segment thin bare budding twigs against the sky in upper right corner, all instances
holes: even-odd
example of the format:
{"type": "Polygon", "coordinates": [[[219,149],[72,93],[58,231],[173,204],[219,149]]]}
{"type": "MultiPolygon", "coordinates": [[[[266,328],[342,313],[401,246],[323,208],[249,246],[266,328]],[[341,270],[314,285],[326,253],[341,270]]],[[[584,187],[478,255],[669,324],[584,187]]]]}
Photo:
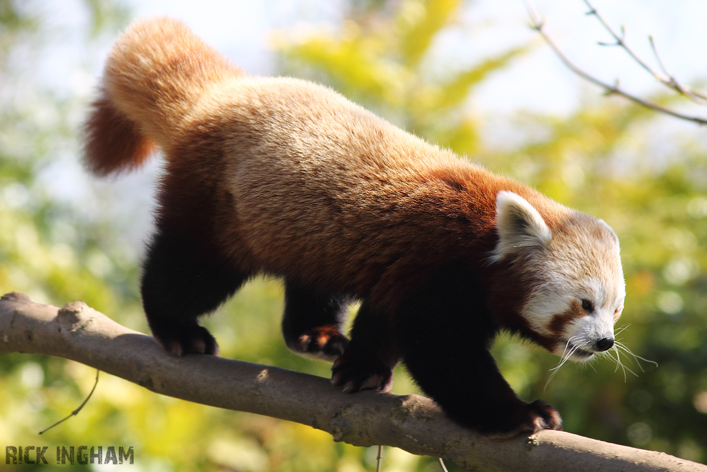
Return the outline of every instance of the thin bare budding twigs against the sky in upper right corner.
{"type": "MultiPolygon", "coordinates": [[[[638,59],[638,58],[636,57],[636,55],[633,54],[633,52],[632,52],[631,50],[629,50],[628,47],[626,47],[626,43],[624,42],[623,38],[621,38],[621,37],[618,36],[616,33],[614,33],[614,30],[612,30],[611,28],[609,28],[609,26],[607,25],[607,23],[604,23],[603,18],[601,18],[600,16],[598,16],[597,11],[596,11],[593,7],[591,7],[591,4],[589,4],[586,0],[585,0],[585,3],[588,4],[588,6],[590,6],[590,11],[588,12],[588,14],[594,15],[594,16],[597,16],[597,18],[600,18],[600,21],[602,22],[602,24],[604,25],[604,27],[607,28],[607,30],[609,30],[609,33],[612,34],[612,36],[614,37],[614,40],[617,41],[615,44],[602,44],[602,43],[600,43],[600,44],[602,44],[602,45],[614,45],[614,46],[617,46],[617,45],[618,45],[618,46],[623,47],[624,50],[626,50],[626,52],[629,52],[629,54],[631,55],[631,57],[633,57],[633,59],[638,60],[638,63],[641,64],[642,67],[644,67],[644,68],[646,68],[648,71],[650,71],[651,74],[653,74],[653,76],[655,76],[655,78],[658,79],[659,81],[661,81],[663,84],[666,84],[667,86],[670,86],[670,88],[673,88],[674,90],[678,91],[679,93],[682,93],[682,94],[688,96],[688,97],[691,98],[693,101],[701,100],[701,96],[700,96],[699,91],[694,91],[694,89],[685,88],[685,87],[683,87],[683,86],[680,86],[680,85],[677,84],[677,82],[674,81],[674,79],[672,79],[672,78],[665,78],[665,81],[662,81],[662,80],[659,78],[659,77],[660,77],[660,74],[655,74],[655,73],[652,71],[652,69],[650,69],[650,67],[645,66],[644,63],[643,63],[643,61],[641,61],[640,59],[638,59]]],[[[568,69],[570,69],[571,71],[573,71],[575,74],[577,74],[578,76],[582,77],[582,78],[585,79],[586,81],[590,81],[590,82],[592,82],[592,84],[595,84],[595,85],[597,85],[597,86],[600,86],[601,88],[604,88],[604,91],[606,91],[607,95],[619,95],[619,96],[622,96],[622,97],[624,97],[624,98],[628,98],[629,100],[633,101],[634,103],[638,103],[638,105],[644,106],[645,108],[650,108],[651,110],[655,110],[655,111],[658,111],[658,112],[660,112],[660,113],[665,113],[666,115],[671,115],[671,116],[676,117],[676,118],[679,118],[679,119],[681,119],[681,120],[687,120],[687,121],[695,122],[695,123],[697,123],[698,125],[707,125],[707,119],[705,119],[705,118],[698,117],[698,116],[685,115],[684,113],[680,113],[680,112],[678,112],[678,111],[676,111],[676,110],[672,110],[672,109],[670,109],[670,108],[666,108],[666,107],[660,105],[659,103],[655,103],[655,102],[653,102],[653,101],[651,101],[651,100],[645,100],[644,98],[640,98],[640,97],[635,96],[635,95],[633,95],[633,94],[631,94],[631,93],[629,93],[629,92],[624,91],[624,89],[622,89],[621,87],[619,87],[619,81],[618,81],[618,80],[617,80],[617,84],[614,85],[614,86],[612,86],[612,85],[607,84],[607,83],[604,82],[604,81],[601,81],[600,79],[597,79],[595,76],[592,76],[592,75],[588,74],[587,72],[583,71],[582,69],[580,69],[579,67],[577,67],[577,66],[562,52],[562,50],[561,50],[560,47],[557,45],[557,43],[554,41],[554,39],[551,37],[551,35],[549,35],[549,33],[547,33],[547,30],[546,30],[546,28],[545,28],[544,21],[542,21],[542,20],[540,20],[540,19],[538,18],[537,13],[535,13],[535,11],[534,11],[534,9],[532,8],[532,5],[530,4],[530,1],[529,1],[529,0],[525,0],[525,6],[526,6],[526,8],[527,8],[528,14],[530,15],[530,21],[531,21],[530,28],[532,28],[533,30],[536,30],[538,33],[540,33],[540,35],[542,36],[542,38],[544,38],[545,42],[547,42],[547,44],[548,44],[548,45],[551,47],[551,49],[555,52],[555,54],[557,55],[557,57],[559,57],[559,58],[561,59],[561,61],[568,67],[568,69]]],[[[653,41],[652,41],[652,40],[651,40],[651,44],[653,44],[653,41]]]]}

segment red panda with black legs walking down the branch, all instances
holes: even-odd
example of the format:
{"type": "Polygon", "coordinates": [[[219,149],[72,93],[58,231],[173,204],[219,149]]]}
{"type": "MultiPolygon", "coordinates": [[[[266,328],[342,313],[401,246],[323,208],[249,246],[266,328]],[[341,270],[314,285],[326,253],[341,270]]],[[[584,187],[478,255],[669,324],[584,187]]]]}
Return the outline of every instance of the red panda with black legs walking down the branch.
{"type": "Polygon", "coordinates": [[[284,278],[288,347],[346,392],[406,367],[491,437],[561,429],[489,353],[500,330],[588,359],[623,309],[607,224],[391,125],[325,86],[247,76],[169,18],[112,47],[85,126],[97,175],[165,158],[141,295],[175,355],[217,354],[197,319],[250,277],[284,278]],[[349,337],[346,306],[361,301],[349,337]]]}

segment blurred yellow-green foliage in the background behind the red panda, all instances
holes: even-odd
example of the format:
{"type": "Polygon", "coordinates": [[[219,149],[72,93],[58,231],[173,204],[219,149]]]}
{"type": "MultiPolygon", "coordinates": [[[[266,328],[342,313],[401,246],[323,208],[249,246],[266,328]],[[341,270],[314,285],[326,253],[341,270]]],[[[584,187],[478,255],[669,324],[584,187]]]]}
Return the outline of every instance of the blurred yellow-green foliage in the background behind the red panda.
{"type": "MultiPolygon", "coordinates": [[[[86,43],[107,41],[129,17],[112,1],[82,5],[90,18],[86,43]]],[[[54,38],[46,18],[25,6],[0,0],[0,292],[26,292],[53,304],[83,299],[145,330],[136,290],[141,248],[122,237],[126,221],[100,216],[110,205],[98,193],[90,195],[98,210],[86,212],[86,197],[57,200],[47,190],[57,162],[76,165],[86,99],[33,80],[36,58],[54,38]]],[[[611,224],[621,239],[629,292],[618,325],[627,328],[618,338],[658,367],[619,352],[634,376],[607,359],[617,356],[609,352],[589,365],[566,365],[549,381],[558,359],[505,336],[494,347],[498,362],[523,398],[554,404],[567,431],[707,461],[704,147],[685,139],[658,159],[645,137],[665,117],[621,100],[589,103],[562,118],[520,114],[510,125],[511,144],[489,144],[484,134],[503,130],[484,128],[485,117],[469,110],[467,99],[526,51],[432,74],[426,63],[432,46],[455,27],[462,7],[473,8],[457,0],[351,1],[340,30],[277,35],[279,63],[288,74],[326,81],[397,125],[611,224]]],[[[278,281],[255,280],[206,325],[218,333],[226,357],[327,376],[328,364],[284,346],[282,306],[278,281]]],[[[62,359],[0,357],[0,445],[46,444],[49,457],[57,445],[132,446],[136,469],[150,471],[375,468],[375,448],[336,444],[303,425],[164,398],[108,375],[76,418],[37,437],[81,403],[94,376],[62,359]]],[[[400,369],[394,391],[415,391],[400,369]]],[[[438,466],[389,449],[383,470],[438,466]]]]}

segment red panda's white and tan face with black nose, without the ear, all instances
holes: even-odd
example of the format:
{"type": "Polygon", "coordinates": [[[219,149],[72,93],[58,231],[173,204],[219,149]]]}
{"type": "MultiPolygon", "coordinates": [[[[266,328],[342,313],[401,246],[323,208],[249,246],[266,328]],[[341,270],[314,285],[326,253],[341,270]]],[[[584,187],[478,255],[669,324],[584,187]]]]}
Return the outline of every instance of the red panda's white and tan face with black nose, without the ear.
{"type": "Polygon", "coordinates": [[[586,360],[613,344],[626,287],[619,243],[604,221],[569,214],[524,267],[535,286],[522,315],[532,330],[559,340],[557,355],[586,360]]]}

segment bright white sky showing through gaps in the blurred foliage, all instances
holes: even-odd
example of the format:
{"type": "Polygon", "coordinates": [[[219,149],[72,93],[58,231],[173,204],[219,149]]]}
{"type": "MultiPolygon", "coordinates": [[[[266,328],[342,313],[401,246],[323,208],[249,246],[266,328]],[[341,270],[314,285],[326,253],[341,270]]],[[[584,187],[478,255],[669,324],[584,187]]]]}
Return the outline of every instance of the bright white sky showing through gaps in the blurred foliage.
{"type": "MultiPolygon", "coordinates": [[[[596,18],[585,15],[588,8],[583,0],[534,0],[532,4],[556,42],[578,66],[612,84],[620,79],[622,87],[641,96],[662,90],[623,50],[597,45],[597,41],[608,41],[609,35],[596,18]]],[[[27,107],[44,100],[37,96],[40,85],[52,88],[59,98],[78,98],[75,101],[83,105],[69,115],[57,116],[52,101],[45,100],[33,116],[37,122],[64,120],[71,129],[80,129],[115,35],[105,35],[98,42],[87,40],[86,28],[81,26],[89,18],[81,0],[29,0],[24,5],[41,12],[54,34],[51,44],[42,49],[39,70],[28,69],[25,64],[37,62],[26,60],[23,50],[16,52],[16,76],[21,80],[13,88],[13,100],[27,107]]],[[[272,52],[276,35],[296,40],[321,30],[336,32],[346,11],[343,0],[131,0],[129,5],[133,18],[180,18],[235,64],[262,76],[276,73],[272,52]]],[[[703,45],[707,44],[703,24],[707,1],[595,0],[594,5],[615,29],[626,26],[626,40],[647,62],[655,64],[648,43],[648,35],[653,35],[663,62],[674,76],[696,86],[707,77],[707,64],[701,59],[703,45]]],[[[518,110],[562,116],[588,102],[624,100],[604,98],[600,88],[575,76],[529,24],[521,0],[468,1],[457,24],[439,35],[426,58],[426,73],[444,76],[513,47],[532,47],[530,54],[496,73],[469,97],[469,113],[485,126],[484,139],[495,139],[496,146],[519,139],[510,120],[518,110]]],[[[683,106],[691,113],[707,116],[707,110],[683,106]]],[[[653,142],[643,144],[650,146],[651,159],[660,159],[660,150],[670,148],[671,142],[682,135],[704,139],[702,128],[670,117],[658,117],[651,126],[656,130],[648,134],[653,142]]],[[[41,177],[45,191],[57,200],[81,202],[87,219],[110,214],[117,226],[126,229],[132,246],[144,247],[152,226],[160,161],[153,159],[143,172],[97,180],[81,167],[78,140],[54,152],[52,165],[41,177]]],[[[667,151],[663,154],[673,155],[667,151]]],[[[17,197],[11,190],[4,195],[17,197]]]]}

